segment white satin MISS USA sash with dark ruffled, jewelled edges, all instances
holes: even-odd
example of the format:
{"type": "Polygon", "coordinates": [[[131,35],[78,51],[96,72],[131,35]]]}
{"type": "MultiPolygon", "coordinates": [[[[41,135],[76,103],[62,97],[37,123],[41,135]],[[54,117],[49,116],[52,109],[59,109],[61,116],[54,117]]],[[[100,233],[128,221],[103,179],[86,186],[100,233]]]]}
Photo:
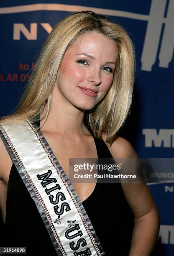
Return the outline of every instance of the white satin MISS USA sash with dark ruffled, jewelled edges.
{"type": "Polygon", "coordinates": [[[58,255],[105,256],[77,193],[37,125],[2,123],[0,131],[58,255]]]}

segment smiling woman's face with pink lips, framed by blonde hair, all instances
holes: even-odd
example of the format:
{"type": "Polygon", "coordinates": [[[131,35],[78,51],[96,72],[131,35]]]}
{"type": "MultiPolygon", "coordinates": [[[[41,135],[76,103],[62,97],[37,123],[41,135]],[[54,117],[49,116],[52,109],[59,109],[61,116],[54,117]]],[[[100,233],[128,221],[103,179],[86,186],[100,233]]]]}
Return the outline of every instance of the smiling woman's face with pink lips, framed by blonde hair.
{"type": "Polygon", "coordinates": [[[113,39],[96,31],[79,36],[61,61],[56,79],[57,100],[83,110],[92,109],[113,82],[117,58],[113,39]]]}

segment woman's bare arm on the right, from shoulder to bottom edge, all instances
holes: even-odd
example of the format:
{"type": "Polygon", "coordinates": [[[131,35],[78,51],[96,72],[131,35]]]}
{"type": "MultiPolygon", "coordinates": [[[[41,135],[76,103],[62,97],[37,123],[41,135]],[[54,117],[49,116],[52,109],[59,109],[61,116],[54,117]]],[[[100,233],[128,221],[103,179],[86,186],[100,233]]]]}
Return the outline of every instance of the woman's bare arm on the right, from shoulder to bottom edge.
{"type": "MultiPolygon", "coordinates": [[[[105,141],[105,136],[103,140],[105,141]]],[[[106,143],[107,144],[107,143],[106,143]]],[[[113,158],[138,158],[133,147],[121,137],[107,144],[113,158]]],[[[134,215],[129,256],[149,256],[159,233],[160,217],[150,189],[144,183],[122,183],[125,198],[134,215]]]]}

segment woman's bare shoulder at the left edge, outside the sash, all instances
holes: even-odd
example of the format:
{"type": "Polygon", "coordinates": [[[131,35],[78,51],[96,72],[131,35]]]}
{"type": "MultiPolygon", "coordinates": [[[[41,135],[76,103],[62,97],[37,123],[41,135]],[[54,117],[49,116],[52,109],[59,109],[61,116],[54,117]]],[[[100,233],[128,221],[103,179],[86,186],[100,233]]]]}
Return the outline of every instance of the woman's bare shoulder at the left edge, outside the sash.
{"type": "Polygon", "coordinates": [[[6,172],[10,169],[12,166],[12,160],[8,154],[8,151],[5,148],[5,145],[0,138],[0,180],[3,179],[6,172]]]}

